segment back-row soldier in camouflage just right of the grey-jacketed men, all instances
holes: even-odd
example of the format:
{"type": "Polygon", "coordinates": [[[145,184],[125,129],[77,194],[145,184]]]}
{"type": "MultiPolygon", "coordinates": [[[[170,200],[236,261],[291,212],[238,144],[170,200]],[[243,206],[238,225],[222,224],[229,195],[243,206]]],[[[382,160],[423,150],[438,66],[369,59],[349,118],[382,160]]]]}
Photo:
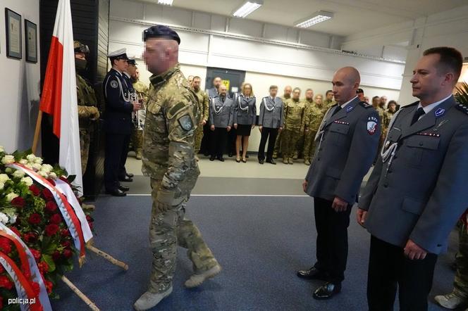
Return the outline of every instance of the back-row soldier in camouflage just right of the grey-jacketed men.
{"type": "Polygon", "coordinates": [[[285,102],[285,122],[281,150],[283,152],[283,163],[294,164],[293,157],[297,140],[301,136],[302,117],[304,115],[304,102],[300,101],[301,90],[296,87],[293,98],[285,102]]]}

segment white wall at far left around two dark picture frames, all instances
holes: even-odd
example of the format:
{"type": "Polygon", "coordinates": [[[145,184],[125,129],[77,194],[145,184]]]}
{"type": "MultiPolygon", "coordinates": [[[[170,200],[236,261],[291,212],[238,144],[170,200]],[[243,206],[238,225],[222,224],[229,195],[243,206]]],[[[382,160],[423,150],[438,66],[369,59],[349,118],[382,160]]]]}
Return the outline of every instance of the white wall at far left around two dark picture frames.
{"type": "Polygon", "coordinates": [[[6,151],[32,146],[39,106],[39,0],[0,2],[0,145],[6,151]],[[23,58],[6,57],[5,8],[21,15],[23,58]],[[37,63],[26,63],[25,19],[37,25],[37,63]]]}

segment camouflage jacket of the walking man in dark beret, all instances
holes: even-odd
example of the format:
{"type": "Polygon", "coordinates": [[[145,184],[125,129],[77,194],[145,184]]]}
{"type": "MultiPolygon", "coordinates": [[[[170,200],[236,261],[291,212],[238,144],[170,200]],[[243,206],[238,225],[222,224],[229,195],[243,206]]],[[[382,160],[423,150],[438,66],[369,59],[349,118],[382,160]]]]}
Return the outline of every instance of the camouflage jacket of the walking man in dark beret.
{"type": "Polygon", "coordinates": [[[149,78],[146,124],[143,139],[145,176],[161,180],[161,188],[174,197],[190,193],[199,168],[194,154],[198,101],[180,65],[149,78]]]}

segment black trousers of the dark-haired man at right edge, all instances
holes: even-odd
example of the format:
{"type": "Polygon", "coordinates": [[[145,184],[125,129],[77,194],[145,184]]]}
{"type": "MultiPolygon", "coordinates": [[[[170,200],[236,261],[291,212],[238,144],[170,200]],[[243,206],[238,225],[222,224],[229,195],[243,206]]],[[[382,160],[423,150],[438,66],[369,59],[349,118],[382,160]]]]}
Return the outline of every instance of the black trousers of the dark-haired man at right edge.
{"type": "Polygon", "coordinates": [[[371,236],[367,303],[369,311],[393,311],[398,287],[400,311],[426,311],[437,255],[410,260],[400,246],[371,236]]]}

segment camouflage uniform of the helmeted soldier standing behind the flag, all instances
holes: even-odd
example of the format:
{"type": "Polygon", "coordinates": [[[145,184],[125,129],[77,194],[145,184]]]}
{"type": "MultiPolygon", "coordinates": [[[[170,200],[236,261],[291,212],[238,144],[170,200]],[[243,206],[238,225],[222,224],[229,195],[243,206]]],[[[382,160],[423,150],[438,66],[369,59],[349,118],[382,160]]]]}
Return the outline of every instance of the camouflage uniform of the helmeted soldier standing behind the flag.
{"type": "Polygon", "coordinates": [[[81,172],[85,174],[88,155],[90,154],[90,141],[92,134],[92,122],[99,120],[96,94],[94,89],[80,75],[76,75],[76,92],[78,99],[78,122],[80,124],[80,151],[81,172]]]}

